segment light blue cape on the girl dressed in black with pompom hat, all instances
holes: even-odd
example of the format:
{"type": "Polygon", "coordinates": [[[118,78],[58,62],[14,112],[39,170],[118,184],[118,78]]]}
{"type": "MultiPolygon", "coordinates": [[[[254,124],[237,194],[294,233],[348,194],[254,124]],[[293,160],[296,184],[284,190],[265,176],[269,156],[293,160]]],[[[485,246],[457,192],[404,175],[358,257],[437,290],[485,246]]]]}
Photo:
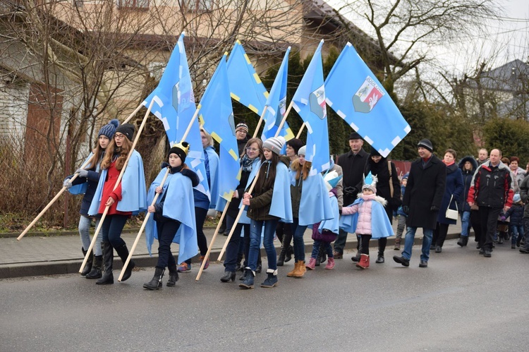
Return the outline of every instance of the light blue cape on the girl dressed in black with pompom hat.
{"type": "MultiPolygon", "coordinates": [[[[147,194],[148,204],[152,204],[154,190],[160,186],[167,169],[162,169],[154,178],[147,194]]],[[[184,262],[198,253],[197,229],[195,221],[195,200],[193,198],[193,185],[190,178],[180,172],[167,175],[163,192],[158,196],[157,204],[164,198],[164,217],[181,222],[173,238],[173,243],[178,243],[178,264],[184,262]]],[[[152,256],[151,248],[154,238],[158,239],[158,231],[154,214],[151,214],[145,225],[145,242],[147,250],[152,256]]]]}

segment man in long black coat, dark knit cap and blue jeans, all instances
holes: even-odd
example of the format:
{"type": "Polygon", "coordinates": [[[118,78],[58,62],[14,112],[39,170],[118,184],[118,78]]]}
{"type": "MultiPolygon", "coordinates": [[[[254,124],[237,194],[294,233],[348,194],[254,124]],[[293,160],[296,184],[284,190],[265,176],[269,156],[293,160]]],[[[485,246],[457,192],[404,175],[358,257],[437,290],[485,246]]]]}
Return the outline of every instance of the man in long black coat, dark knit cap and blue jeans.
{"type": "Polygon", "coordinates": [[[432,233],[446,185],[446,166],[433,154],[432,142],[423,139],[417,147],[420,158],[411,163],[410,176],[402,200],[402,210],[408,214],[404,250],[400,257],[393,257],[395,262],[405,267],[410,266],[411,248],[418,227],[422,227],[423,234],[419,267],[428,267],[432,233]]]}

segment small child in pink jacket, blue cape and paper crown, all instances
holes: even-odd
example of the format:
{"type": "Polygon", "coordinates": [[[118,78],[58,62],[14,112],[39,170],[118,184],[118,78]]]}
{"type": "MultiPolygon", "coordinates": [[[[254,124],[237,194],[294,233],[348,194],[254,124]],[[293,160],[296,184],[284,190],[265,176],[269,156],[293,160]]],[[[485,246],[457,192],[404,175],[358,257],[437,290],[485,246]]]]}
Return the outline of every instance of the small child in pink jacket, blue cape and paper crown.
{"type": "Polygon", "coordinates": [[[369,267],[370,239],[393,236],[393,228],[384,210],[387,201],[375,194],[376,184],[376,176],[369,173],[358,199],[341,210],[340,228],[361,237],[360,261],[356,263],[360,269],[369,267]]]}

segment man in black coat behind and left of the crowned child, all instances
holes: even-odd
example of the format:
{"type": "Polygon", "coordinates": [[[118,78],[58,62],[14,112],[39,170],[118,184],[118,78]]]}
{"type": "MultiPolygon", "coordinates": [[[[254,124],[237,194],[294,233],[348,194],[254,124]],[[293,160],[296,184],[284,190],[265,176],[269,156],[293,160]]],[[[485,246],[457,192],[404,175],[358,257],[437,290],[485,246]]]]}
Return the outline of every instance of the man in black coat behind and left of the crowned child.
{"type": "MultiPolygon", "coordinates": [[[[362,183],[364,178],[364,169],[369,153],[363,150],[362,146],[364,140],[362,137],[353,132],[349,135],[350,152],[341,154],[338,157],[338,164],[343,171],[343,206],[353,204],[356,200],[358,192],[362,190],[362,183]]],[[[343,257],[343,248],[346,245],[347,232],[340,229],[338,238],[334,241],[334,259],[343,257]]],[[[357,247],[358,248],[358,247],[357,247]]]]}

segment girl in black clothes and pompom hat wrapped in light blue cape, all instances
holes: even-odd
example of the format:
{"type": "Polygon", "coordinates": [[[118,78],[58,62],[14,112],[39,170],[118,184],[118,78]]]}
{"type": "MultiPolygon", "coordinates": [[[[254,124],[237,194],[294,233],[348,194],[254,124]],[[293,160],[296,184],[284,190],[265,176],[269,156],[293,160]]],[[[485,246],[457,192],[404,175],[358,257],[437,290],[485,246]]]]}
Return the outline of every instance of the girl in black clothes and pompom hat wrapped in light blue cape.
{"type": "Polygon", "coordinates": [[[193,187],[200,183],[197,174],[190,170],[186,163],[189,152],[188,142],[181,142],[169,150],[168,161],[164,162],[157,178],[152,181],[147,194],[147,203],[151,204],[156,193],[159,194],[156,204],[149,205],[147,211],[154,213],[149,217],[145,227],[147,249],[151,252],[154,238],[158,239],[158,262],[154,277],[143,284],[145,289],[162,289],[162,277],[165,268],[169,269],[167,286],[175,286],[178,281],[176,260],[171,253],[171,243],[178,243],[178,261],[183,262],[194,257],[198,251],[195,224],[195,201],[193,187]],[[169,174],[162,181],[169,168],[169,174]]]}

